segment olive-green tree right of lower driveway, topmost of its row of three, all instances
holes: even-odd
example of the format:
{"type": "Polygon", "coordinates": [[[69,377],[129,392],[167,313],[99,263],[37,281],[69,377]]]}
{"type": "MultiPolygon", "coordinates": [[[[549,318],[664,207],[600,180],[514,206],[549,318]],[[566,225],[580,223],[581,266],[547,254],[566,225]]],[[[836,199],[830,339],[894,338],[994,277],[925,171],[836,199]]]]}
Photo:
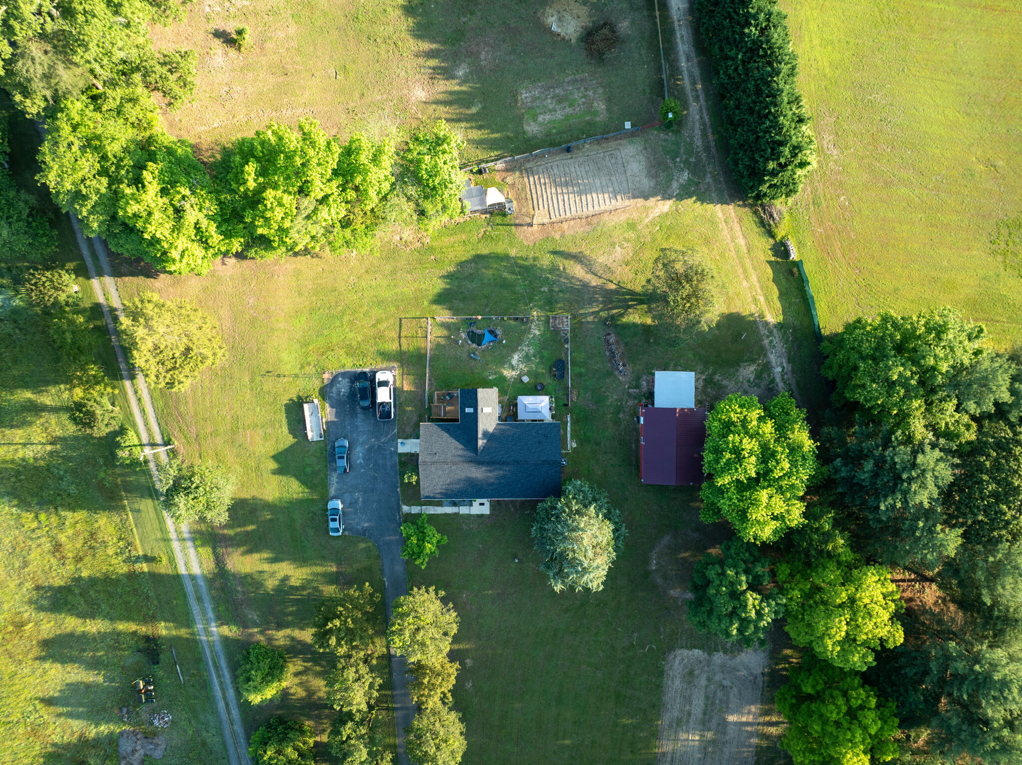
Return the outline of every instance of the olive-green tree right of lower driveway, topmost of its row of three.
{"type": "Polygon", "coordinates": [[[444,590],[412,587],[393,602],[387,642],[408,661],[431,662],[447,658],[458,631],[458,614],[440,601],[444,590]]]}

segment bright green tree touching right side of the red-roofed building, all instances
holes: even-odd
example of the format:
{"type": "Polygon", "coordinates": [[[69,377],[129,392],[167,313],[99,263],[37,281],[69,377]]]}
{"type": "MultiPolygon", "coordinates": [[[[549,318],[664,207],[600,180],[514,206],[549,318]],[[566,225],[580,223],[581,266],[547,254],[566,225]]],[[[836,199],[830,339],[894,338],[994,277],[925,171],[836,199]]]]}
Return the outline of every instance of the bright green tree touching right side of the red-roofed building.
{"type": "Polygon", "coordinates": [[[763,408],[732,393],[710,413],[700,517],[727,519],[750,542],[771,542],[802,522],[802,494],[818,473],[805,412],[782,393],[763,408]]]}

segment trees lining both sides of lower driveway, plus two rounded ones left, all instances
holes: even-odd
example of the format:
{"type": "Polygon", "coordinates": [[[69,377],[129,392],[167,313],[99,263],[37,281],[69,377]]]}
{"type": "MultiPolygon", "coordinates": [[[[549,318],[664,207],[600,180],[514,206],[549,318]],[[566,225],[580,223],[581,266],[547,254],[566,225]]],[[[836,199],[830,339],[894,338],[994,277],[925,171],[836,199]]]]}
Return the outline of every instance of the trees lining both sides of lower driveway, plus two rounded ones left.
{"type": "MultiPolygon", "coordinates": [[[[328,654],[326,699],[337,716],[328,749],[341,765],[388,765],[390,720],[380,701],[387,673],[387,646],[408,661],[409,685],[418,711],[405,730],[405,747],[416,765],[458,765],[465,753],[465,726],[452,708],[457,662],[448,659],[458,631],[458,615],[440,599],[443,590],[413,587],[394,600],[385,637],[378,624],[380,596],[367,583],[341,589],[320,604],[313,624],[313,647],[328,654]]],[[[251,704],[283,690],[287,678],[283,652],[254,643],[242,655],[238,687],[251,704]]],[[[257,765],[312,765],[315,732],[309,723],[274,717],[257,730],[249,754],[257,765]]]]}

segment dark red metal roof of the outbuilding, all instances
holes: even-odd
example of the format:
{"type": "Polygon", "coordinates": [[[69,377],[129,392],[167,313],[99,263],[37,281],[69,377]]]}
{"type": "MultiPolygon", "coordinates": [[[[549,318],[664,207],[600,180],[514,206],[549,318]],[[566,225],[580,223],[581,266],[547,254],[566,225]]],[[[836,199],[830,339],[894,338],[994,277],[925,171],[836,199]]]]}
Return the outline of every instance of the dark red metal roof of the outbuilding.
{"type": "Polygon", "coordinates": [[[639,479],[660,486],[703,482],[706,410],[639,408],[639,479]]]}

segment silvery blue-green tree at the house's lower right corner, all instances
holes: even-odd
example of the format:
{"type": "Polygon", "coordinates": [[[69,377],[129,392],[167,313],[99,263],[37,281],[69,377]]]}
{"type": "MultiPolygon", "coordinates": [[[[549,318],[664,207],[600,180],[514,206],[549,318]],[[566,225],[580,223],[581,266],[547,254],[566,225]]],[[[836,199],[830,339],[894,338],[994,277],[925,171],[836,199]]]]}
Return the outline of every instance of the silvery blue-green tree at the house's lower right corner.
{"type": "Polygon", "coordinates": [[[626,535],[607,493],[578,480],[565,484],[560,497],[541,503],[532,521],[532,539],[544,557],[540,568],[556,592],[603,589],[626,535]]]}

